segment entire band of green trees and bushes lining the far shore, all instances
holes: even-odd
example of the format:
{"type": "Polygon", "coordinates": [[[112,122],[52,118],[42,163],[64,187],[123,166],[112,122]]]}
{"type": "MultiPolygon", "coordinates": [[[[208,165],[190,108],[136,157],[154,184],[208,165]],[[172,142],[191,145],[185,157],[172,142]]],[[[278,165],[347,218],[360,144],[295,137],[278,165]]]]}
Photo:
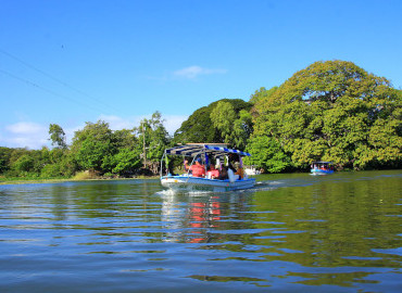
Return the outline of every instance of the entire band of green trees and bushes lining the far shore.
{"type": "MultiPolygon", "coordinates": [[[[316,62],[248,102],[222,99],[197,110],[171,137],[155,112],[131,129],[87,123],[71,145],[56,124],[53,148],[0,148],[2,178],[155,175],[167,146],[228,143],[253,154],[246,164],[268,173],[305,170],[313,161],[337,169],[401,167],[402,91],[352,62],[316,62]],[[89,175],[90,174],[90,175],[89,175]]],[[[0,179],[1,179],[0,177],[0,179]]]]}

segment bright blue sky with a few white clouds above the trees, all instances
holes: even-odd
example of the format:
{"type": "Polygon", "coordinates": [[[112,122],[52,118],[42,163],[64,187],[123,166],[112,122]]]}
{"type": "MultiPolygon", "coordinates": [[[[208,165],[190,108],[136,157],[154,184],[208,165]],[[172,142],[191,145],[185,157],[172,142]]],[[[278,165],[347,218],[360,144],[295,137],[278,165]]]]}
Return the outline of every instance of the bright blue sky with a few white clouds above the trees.
{"type": "Polygon", "coordinates": [[[402,0],[0,0],[0,146],[196,110],[351,61],[402,88],[402,0]]]}

